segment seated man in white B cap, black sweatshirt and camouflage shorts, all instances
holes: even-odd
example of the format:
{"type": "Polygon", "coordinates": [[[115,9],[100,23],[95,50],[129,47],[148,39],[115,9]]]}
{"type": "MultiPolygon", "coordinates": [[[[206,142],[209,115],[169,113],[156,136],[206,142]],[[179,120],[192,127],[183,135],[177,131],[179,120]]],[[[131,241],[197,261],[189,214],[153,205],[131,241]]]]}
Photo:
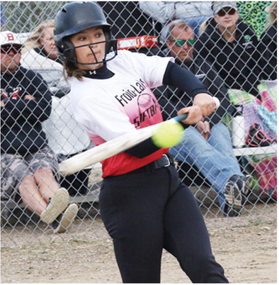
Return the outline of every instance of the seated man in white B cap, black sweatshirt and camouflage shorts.
{"type": "Polygon", "coordinates": [[[1,44],[1,199],[21,197],[25,206],[63,233],[76,217],[69,194],[57,183],[58,163],[47,145],[42,121],[51,94],[39,74],[21,67],[21,43],[10,31],[1,44]]]}

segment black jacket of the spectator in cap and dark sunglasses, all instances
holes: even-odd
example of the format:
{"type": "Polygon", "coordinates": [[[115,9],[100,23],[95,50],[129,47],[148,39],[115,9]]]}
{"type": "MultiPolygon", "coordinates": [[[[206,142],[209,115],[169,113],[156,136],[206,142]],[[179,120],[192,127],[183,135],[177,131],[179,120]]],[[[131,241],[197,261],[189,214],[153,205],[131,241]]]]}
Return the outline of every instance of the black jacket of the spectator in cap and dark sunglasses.
{"type": "Polygon", "coordinates": [[[258,96],[261,69],[256,33],[246,23],[237,23],[236,39],[229,43],[211,18],[195,43],[195,56],[211,62],[227,88],[241,89],[258,96]]]}

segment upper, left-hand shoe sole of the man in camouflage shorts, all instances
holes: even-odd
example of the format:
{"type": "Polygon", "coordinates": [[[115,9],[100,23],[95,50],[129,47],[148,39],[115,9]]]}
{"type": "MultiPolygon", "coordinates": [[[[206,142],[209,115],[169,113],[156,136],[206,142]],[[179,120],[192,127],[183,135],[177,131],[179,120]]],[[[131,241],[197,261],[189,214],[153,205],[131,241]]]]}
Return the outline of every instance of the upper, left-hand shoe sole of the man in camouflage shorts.
{"type": "Polygon", "coordinates": [[[60,188],[53,194],[47,208],[40,214],[44,223],[52,223],[69,205],[70,197],[66,189],[60,188]]]}

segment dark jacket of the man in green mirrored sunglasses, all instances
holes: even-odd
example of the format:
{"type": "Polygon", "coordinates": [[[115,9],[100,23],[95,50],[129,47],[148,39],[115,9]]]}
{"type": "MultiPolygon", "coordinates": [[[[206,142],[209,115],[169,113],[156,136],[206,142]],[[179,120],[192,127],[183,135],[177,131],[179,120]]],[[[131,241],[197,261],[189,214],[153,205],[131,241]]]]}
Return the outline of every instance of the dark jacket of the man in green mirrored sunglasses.
{"type": "MultiPolygon", "coordinates": [[[[176,63],[181,65],[181,67],[189,69],[190,72],[193,72],[195,77],[200,79],[200,81],[207,87],[210,94],[220,100],[220,107],[217,108],[217,110],[210,116],[205,118],[206,121],[210,122],[210,125],[219,123],[224,115],[231,111],[232,105],[230,104],[227,95],[227,88],[224,86],[224,82],[217,74],[215,68],[200,57],[186,62],[185,64],[178,61],[176,63]]],[[[159,89],[155,91],[155,94],[159,97],[159,104],[163,110],[164,120],[173,118],[176,116],[176,112],[179,109],[192,106],[193,104],[191,96],[173,86],[169,86],[169,89],[159,87],[159,89]],[[159,96],[160,92],[158,91],[161,91],[163,96],[159,96]]]]}

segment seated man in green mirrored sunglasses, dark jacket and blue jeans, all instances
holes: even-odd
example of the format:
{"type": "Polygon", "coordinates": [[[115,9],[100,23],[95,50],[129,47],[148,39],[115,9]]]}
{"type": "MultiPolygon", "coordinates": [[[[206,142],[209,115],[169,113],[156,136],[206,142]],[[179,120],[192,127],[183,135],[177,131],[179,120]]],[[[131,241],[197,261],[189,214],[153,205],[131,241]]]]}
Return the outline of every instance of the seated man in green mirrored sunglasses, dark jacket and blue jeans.
{"type": "MultiPolygon", "coordinates": [[[[186,128],[183,142],[171,147],[170,152],[178,161],[198,167],[215,188],[224,216],[239,216],[241,194],[248,189],[244,174],[234,156],[229,130],[222,123],[231,104],[224,82],[214,67],[200,57],[193,59],[194,42],[195,35],[188,23],[171,23],[166,40],[166,55],[175,57],[179,65],[193,72],[208,91],[220,100],[221,105],[205,121],[200,121],[195,127],[186,128]]],[[[159,103],[166,119],[176,116],[173,107],[179,109],[192,104],[188,94],[174,88],[166,89],[159,103]]]]}

